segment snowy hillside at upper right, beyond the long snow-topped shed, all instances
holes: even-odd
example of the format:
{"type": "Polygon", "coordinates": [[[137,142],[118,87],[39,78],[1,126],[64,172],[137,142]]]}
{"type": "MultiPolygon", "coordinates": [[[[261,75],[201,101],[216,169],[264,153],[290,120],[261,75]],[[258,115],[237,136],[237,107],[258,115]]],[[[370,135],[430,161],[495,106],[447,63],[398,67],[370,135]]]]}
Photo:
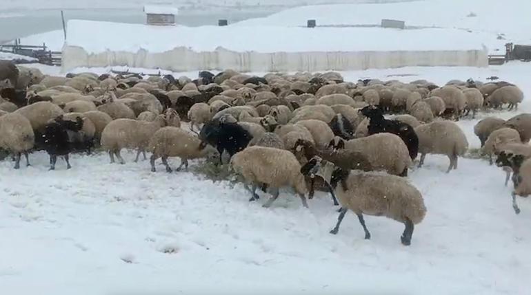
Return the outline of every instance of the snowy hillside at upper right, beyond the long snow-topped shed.
{"type": "MultiPolygon", "coordinates": [[[[412,27],[456,28],[488,33],[481,34],[485,37],[482,42],[491,50],[503,50],[503,44],[510,41],[531,42],[530,10],[531,1],[528,0],[507,0],[503,3],[499,0],[430,0],[339,4],[292,8],[269,17],[241,21],[233,26],[303,26],[308,19],[317,20],[317,25],[380,25],[381,19],[397,19],[412,27]],[[497,40],[498,34],[505,34],[507,40],[497,40]]],[[[434,35],[430,41],[439,42],[438,38],[434,35]]]]}

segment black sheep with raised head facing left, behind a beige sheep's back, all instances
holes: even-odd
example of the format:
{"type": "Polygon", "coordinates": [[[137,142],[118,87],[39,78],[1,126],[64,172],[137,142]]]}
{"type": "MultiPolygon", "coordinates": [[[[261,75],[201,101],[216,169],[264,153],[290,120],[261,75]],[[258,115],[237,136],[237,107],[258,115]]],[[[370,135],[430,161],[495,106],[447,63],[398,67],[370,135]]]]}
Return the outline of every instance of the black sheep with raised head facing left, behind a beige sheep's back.
{"type": "Polygon", "coordinates": [[[411,160],[417,157],[419,153],[419,137],[411,125],[383,118],[381,109],[377,107],[367,106],[360,109],[359,112],[369,118],[368,135],[384,132],[396,134],[402,139],[405,146],[408,146],[411,160]]]}

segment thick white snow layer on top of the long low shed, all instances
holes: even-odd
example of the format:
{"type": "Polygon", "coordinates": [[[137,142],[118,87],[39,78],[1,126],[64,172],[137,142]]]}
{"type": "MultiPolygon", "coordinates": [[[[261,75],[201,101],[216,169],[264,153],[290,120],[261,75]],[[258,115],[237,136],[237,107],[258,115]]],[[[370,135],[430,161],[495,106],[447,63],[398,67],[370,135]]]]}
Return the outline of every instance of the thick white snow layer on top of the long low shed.
{"type": "Polygon", "coordinates": [[[187,47],[212,52],[355,52],[481,50],[481,34],[463,30],[393,30],[382,28],[283,28],[280,26],[157,27],[103,21],[68,21],[66,41],[89,53],[151,53],[187,47]],[[90,38],[88,38],[90,36],[90,38]],[[435,38],[437,36],[437,38],[435,38]]]}

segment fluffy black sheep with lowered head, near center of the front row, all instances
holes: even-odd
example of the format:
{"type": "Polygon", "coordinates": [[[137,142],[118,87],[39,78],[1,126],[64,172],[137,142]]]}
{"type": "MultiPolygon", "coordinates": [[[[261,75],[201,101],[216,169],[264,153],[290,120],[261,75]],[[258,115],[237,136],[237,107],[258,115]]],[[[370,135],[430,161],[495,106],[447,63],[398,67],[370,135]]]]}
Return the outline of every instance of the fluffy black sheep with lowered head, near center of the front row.
{"type": "Polygon", "coordinates": [[[235,153],[243,151],[252,140],[252,135],[237,123],[219,122],[211,120],[206,122],[199,133],[201,141],[215,146],[219,151],[219,162],[223,151],[227,151],[232,157],[235,153]]]}

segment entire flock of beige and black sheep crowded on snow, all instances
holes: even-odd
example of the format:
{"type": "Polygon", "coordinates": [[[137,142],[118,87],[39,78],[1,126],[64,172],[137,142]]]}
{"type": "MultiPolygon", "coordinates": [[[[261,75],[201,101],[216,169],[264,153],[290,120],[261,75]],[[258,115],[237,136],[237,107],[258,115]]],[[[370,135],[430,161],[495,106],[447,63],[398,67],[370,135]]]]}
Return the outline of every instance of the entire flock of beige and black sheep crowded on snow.
{"type": "MultiPolygon", "coordinates": [[[[106,151],[123,164],[121,149],[150,152],[151,170],[168,157],[229,161],[250,191],[279,197],[290,186],[307,207],[306,195],[324,189],[341,205],[337,234],[347,210],[370,232],[363,215],[385,216],[404,224],[410,245],[414,224],[425,217],[419,190],[408,169],[420,154],[447,155],[457,169],[468,141],[454,122],[487,108],[517,109],[522,91],[505,82],[452,80],[439,87],[426,80],[401,83],[377,79],[345,82],[336,72],[248,76],[232,70],[199,78],[171,75],[92,73],[46,76],[38,69],[0,62],[0,148],[19,168],[21,155],[46,150],[50,169],[57,157],[106,151]],[[469,114],[472,112],[472,114],[469,114]],[[391,117],[384,114],[391,113],[391,117]],[[183,123],[181,126],[181,121],[183,123]],[[230,160],[223,160],[226,157],[230,160]],[[338,201],[339,200],[339,201],[338,201]]],[[[531,193],[531,114],[504,121],[488,117],[474,132],[483,151],[512,173],[515,196],[531,193]]],[[[506,179],[506,183],[508,181],[506,179]]]]}

